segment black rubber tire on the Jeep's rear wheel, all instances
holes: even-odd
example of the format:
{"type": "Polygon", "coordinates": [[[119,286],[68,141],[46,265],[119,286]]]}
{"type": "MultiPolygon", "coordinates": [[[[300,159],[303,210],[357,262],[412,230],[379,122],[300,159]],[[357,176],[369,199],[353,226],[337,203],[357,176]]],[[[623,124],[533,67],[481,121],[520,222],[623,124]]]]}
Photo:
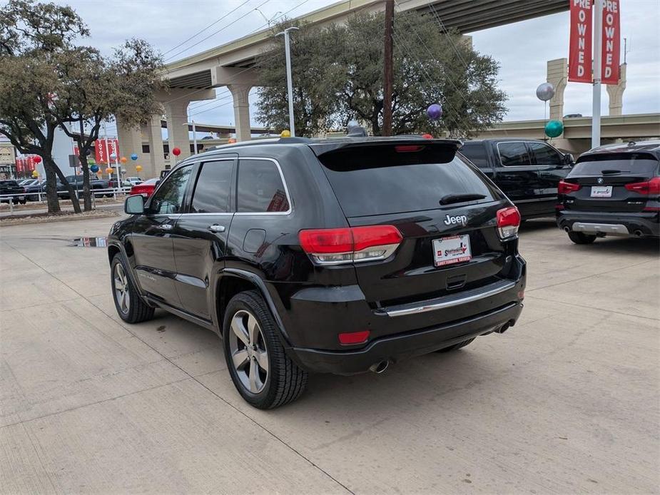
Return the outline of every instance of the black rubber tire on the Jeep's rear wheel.
{"type": "MultiPolygon", "coordinates": [[[[236,337],[233,339],[236,341],[236,337]]],[[[253,348],[256,347],[255,342],[253,348]]],[[[270,314],[268,305],[256,290],[240,292],[229,301],[223,320],[223,348],[231,380],[241,397],[250,405],[258,409],[274,409],[298,399],[303,394],[307,385],[308,373],[304,369],[300,369],[286,354],[273,315],[270,314]],[[255,317],[259,325],[258,330],[260,330],[260,336],[257,337],[258,345],[265,347],[268,356],[268,372],[265,374],[263,388],[256,393],[250,392],[250,389],[241,381],[240,371],[234,364],[230,349],[233,345],[230,343],[230,338],[234,334],[231,324],[234,317],[240,318],[239,315],[255,317]]],[[[251,364],[250,359],[256,358],[248,357],[247,362],[251,364]]],[[[258,373],[261,372],[263,370],[258,368],[258,373]]],[[[244,372],[241,371],[241,373],[244,372]]]]}

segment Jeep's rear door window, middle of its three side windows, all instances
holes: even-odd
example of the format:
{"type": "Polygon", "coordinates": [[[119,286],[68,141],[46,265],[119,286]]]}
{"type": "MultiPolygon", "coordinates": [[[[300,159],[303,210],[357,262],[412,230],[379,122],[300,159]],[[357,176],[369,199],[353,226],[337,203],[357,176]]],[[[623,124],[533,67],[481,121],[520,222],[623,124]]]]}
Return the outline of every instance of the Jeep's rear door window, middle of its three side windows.
{"type": "Polygon", "coordinates": [[[229,211],[233,160],[202,165],[197,178],[191,213],[225,213],[229,211]]]}

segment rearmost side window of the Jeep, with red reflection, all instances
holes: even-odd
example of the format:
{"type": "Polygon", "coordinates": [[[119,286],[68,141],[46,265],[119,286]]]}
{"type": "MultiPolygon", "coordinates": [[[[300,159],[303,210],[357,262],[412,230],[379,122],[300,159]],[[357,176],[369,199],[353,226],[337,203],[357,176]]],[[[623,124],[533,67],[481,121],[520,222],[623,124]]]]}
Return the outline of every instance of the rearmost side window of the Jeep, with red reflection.
{"type": "Polygon", "coordinates": [[[240,160],[238,163],[238,213],[289,210],[280,170],[270,160],[240,160]]]}

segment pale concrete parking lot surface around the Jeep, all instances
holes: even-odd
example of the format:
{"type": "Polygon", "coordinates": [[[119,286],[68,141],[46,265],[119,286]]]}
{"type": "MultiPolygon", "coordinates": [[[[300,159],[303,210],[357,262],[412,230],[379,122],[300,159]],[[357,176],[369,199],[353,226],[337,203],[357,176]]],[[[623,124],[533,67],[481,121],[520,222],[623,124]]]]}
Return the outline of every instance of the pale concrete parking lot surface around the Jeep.
{"type": "Polygon", "coordinates": [[[0,228],[0,491],[657,493],[660,265],[651,240],[522,227],[504,335],[245,404],[218,337],[116,315],[116,219],[0,228]]]}

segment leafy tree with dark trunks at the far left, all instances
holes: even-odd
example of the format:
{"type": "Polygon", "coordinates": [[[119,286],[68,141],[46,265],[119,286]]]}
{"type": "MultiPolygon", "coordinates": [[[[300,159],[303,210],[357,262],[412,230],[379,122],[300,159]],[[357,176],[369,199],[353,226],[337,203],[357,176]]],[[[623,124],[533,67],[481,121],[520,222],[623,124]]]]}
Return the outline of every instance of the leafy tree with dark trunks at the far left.
{"type": "Polygon", "coordinates": [[[93,47],[73,44],[88,34],[68,6],[11,0],[0,12],[0,133],[21,153],[44,160],[49,213],[60,211],[58,179],[74,211],[81,210],[52,156],[57,128],[78,143],[84,206],[89,210],[86,151],[98,138],[101,123],[120,116],[138,125],[160,111],[154,93],[163,88],[162,61],[151,46],[129,40],[113,56],[104,57],[93,47]]]}

